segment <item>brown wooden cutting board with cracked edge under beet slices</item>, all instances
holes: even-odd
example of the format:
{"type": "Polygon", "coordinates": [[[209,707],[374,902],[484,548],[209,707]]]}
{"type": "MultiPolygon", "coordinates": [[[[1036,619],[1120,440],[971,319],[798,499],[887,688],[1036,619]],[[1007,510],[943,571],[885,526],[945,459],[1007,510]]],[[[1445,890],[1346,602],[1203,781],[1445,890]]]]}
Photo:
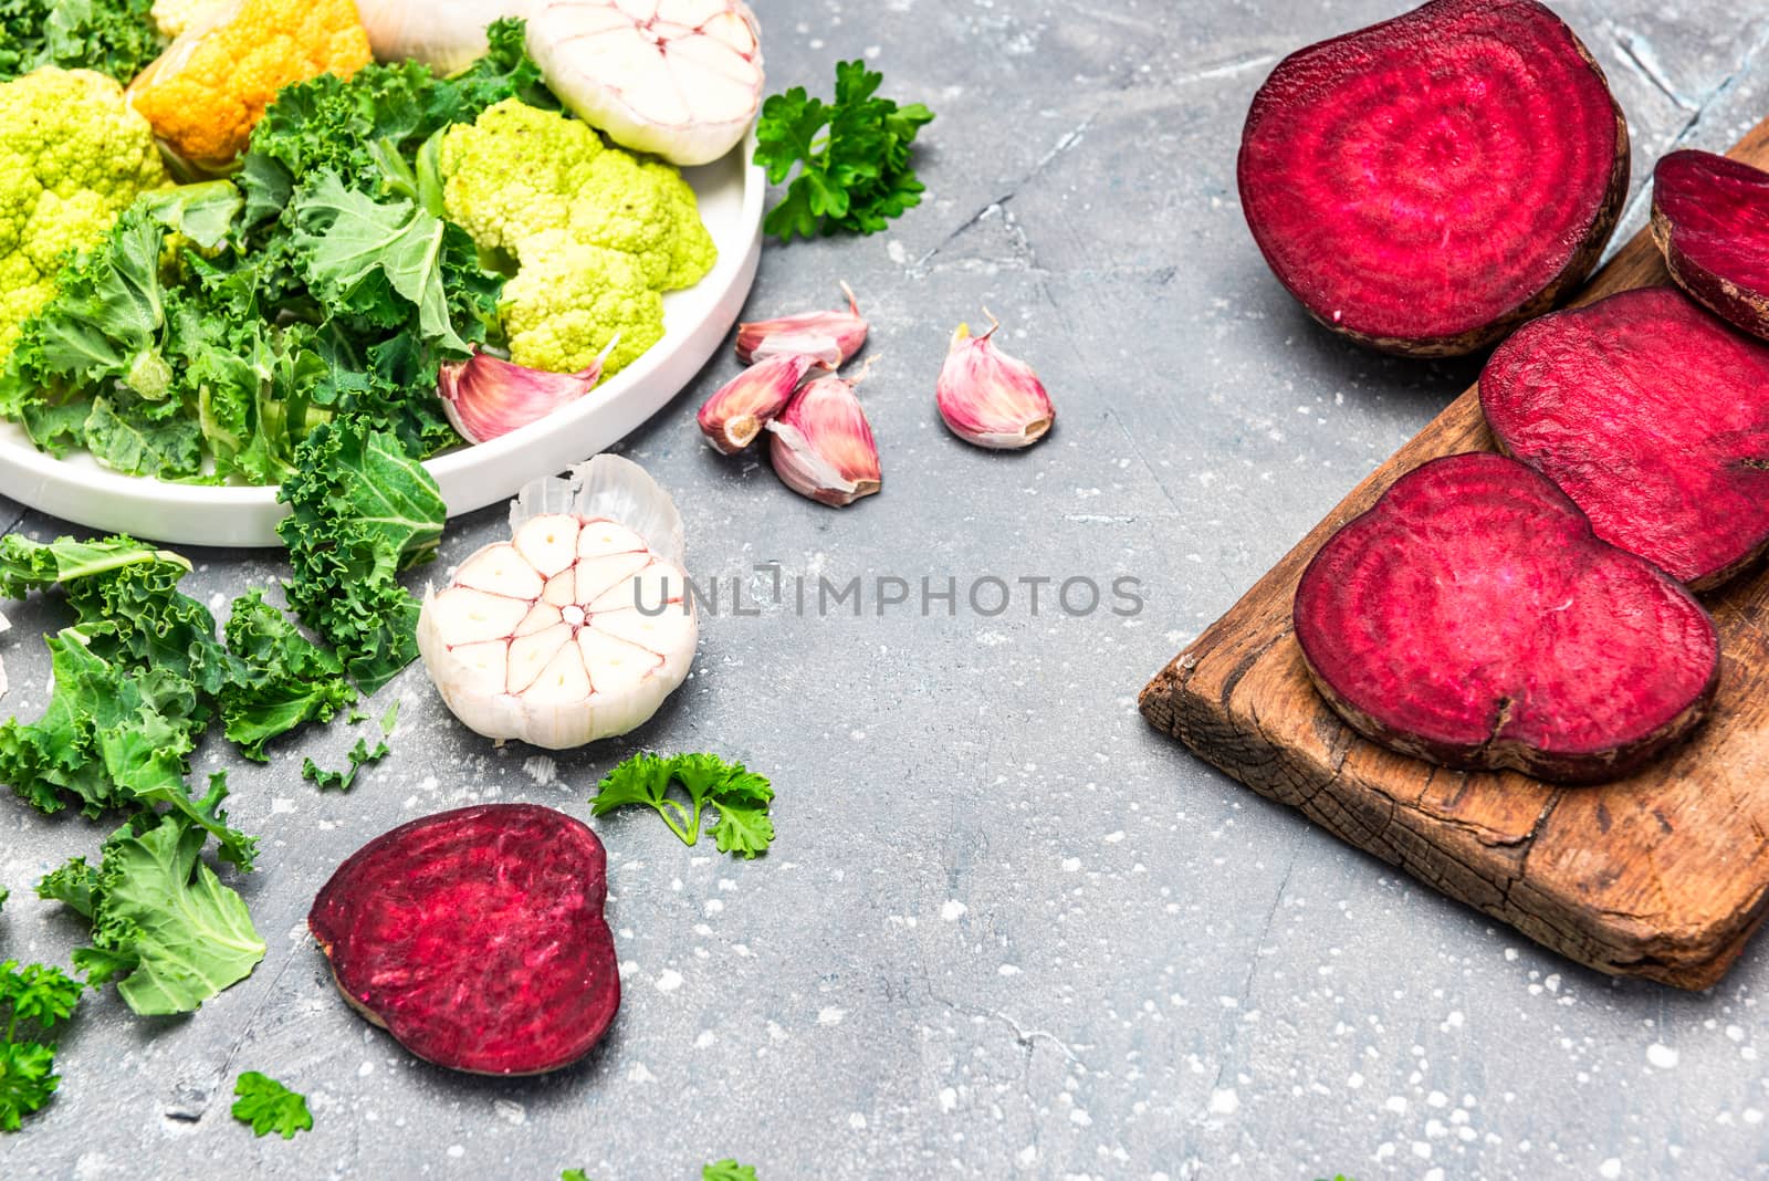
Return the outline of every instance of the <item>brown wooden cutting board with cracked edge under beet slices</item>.
{"type": "MultiPolygon", "coordinates": [[[[1769,120],[1730,156],[1769,168],[1769,120]]],[[[1668,281],[1642,232],[1576,302],[1668,281]]],[[[1396,755],[1346,727],[1302,665],[1290,608],[1327,537],[1426,460],[1493,449],[1470,389],[1173,658],[1143,690],[1143,716],[1261,796],[1580,964],[1705,988],[1769,905],[1769,573],[1704,598],[1723,659],[1695,737],[1601,787],[1396,755]]]]}

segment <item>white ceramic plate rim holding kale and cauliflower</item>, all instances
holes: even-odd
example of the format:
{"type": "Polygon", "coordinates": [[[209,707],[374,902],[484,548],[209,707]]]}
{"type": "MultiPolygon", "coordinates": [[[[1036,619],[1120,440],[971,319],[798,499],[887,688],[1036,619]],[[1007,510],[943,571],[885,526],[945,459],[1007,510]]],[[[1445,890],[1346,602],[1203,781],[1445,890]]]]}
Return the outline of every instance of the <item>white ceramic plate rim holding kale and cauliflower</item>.
{"type": "MultiPolygon", "coordinates": [[[[540,423],[430,460],[449,516],[513,497],[610,447],[662,410],[706,364],[738,320],[761,258],[766,179],[754,141],[683,177],[718,246],[711,274],[663,297],[663,339],[582,400],[540,423]]],[[[62,520],[172,545],[280,546],[276,488],[173,484],[119,476],[85,453],[55,460],[18,423],[0,421],[0,493],[62,520]]]]}

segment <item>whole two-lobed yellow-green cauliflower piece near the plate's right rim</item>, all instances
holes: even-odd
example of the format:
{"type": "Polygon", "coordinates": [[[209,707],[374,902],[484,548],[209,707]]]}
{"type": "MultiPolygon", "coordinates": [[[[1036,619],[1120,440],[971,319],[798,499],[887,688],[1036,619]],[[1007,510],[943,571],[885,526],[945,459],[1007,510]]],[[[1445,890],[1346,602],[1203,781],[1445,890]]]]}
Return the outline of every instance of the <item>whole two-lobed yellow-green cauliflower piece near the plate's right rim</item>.
{"type": "Polygon", "coordinates": [[[662,292],[718,260],[676,168],[566,115],[506,99],[451,127],[437,159],[448,217],[517,260],[501,315],[518,364],[582,370],[619,332],[614,373],[662,339],[662,292]]]}

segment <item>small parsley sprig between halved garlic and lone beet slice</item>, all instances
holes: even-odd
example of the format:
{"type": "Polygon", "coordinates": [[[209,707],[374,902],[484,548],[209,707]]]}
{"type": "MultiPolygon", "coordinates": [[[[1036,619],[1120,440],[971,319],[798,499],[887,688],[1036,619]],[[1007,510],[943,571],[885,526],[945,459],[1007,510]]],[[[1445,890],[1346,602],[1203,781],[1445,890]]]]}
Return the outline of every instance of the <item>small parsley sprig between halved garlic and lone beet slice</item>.
{"type": "Polygon", "coordinates": [[[713,840],[718,852],[754,859],[773,842],[768,804],[773,787],[741,762],[718,755],[633,755],[596,787],[589,810],[601,817],[616,808],[644,804],[663,817],[683,845],[701,840],[708,804],[718,811],[713,840]],[[670,794],[672,785],[681,790],[670,794]]]}

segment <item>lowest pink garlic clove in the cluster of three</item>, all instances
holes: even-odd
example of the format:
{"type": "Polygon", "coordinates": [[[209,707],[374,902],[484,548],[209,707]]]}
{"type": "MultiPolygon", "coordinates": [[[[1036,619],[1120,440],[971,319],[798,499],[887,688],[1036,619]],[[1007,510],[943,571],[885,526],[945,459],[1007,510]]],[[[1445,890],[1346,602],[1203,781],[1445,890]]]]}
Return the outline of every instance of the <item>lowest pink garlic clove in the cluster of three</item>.
{"type": "Polygon", "coordinates": [[[872,424],[854,396],[858,380],[819,377],[768,424],[775,474],[801,497],[842,507],[883,483],[872,424]]]}

